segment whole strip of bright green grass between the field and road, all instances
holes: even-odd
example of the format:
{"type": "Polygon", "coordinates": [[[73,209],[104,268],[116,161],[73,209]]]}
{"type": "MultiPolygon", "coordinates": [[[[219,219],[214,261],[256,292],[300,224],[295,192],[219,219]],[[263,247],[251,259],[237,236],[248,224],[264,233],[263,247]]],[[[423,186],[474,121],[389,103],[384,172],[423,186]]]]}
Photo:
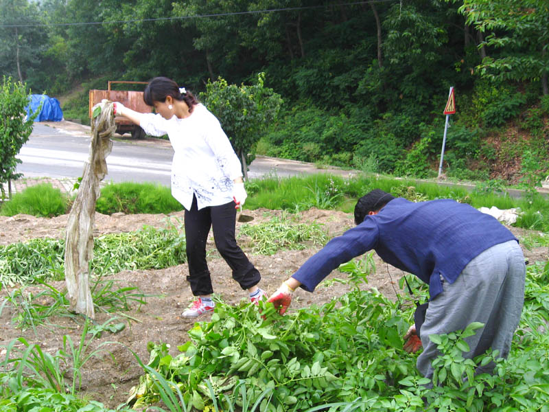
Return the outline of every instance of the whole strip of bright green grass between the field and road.
{"type": "MultiPolygon", "coordinates": [[[[411,201],[452,198],[461,203],[520,211],[515,226],[549,231],[549,199],[535,190],[525,190],[522,198],[509,196],[501,183],[477,183],[471,192],[458,186],[445,186],[416,179],[393,179],[390,176],[359,174],[342,178],[333,174],[315,174],[279,178],[268,176],[246,182],[247,209],[283,209],[289,212],[318,209],[353,211],[357,199],[375,188],[411,201]]],[[[102,214],[170,214],[183,208],[168,187],[151,183],[113,183],[102,188],[96,210],[102,214]]],[[[28,187],[0,207],[0,215],[30,214],[40,217],[67,214],[71,199],[51,184],[28,187]]]]}

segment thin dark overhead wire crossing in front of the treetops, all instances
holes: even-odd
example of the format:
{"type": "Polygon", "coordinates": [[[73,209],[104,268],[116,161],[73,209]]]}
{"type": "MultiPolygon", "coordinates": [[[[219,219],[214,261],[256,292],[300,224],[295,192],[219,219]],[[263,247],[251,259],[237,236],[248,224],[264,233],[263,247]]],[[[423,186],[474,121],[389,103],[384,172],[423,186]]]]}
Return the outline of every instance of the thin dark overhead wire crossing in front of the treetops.
{"type": "Polygon", "coordinates": [[[73,23],[25,23],[25,24],[0,24],[0,27],[43,27],[43,26],[73,26],[73,25],[103,25],[103,24],[121,24],[121,23],[145,23],[149,21],[172,21],[172,20],[186,20],[186,19],[209,19],[211,17],[223,17],[223,16],[239,16],[241,14],[260,14],[260,13],[272,13],[272,12],[291,12],[295,10],[312,10],[319,8],[329,8],[338,5],[360,5],[370,3],[388,3],[393,1],[402,0],[368,0],[368,1],[355,1],[353,3],[336,3],[336,4],[323,4],[323,5],[304,5],[302,7],[289,7],[289,8],[275,8],[266,10],[249,10],[246,12],[227,12],[227,13],[215,13],[215,14],[197,14],[196,16],[174,16],[174,17],[158,17],[155,19],[130,19],[130,20],[115,20],[115,21],[85,21],[85,22],[73,22],[73,23]]]}

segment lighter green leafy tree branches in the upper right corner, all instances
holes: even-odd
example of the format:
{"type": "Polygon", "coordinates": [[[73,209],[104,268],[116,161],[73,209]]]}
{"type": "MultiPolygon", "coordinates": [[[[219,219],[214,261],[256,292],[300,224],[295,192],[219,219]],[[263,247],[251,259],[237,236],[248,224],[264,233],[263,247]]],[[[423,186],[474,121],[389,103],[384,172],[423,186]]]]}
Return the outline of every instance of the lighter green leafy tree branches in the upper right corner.
{"type": "Polygon", "coordinates": [[[549,4],[547,0],[464,0],[459,8],[480,32],[480,46],[497,47],[499,56],[484,58],[481,76],[492,80],[541,80],[549,94],[549,4]]]}

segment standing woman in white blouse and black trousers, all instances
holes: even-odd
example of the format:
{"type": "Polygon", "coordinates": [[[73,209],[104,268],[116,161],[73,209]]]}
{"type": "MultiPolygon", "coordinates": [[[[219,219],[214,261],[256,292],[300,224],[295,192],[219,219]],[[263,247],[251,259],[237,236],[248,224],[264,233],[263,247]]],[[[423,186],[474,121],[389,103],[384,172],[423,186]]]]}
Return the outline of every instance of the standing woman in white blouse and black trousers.
{"type": "Polygon", "coordinates": [[[156,114],[139,113],[115,102],[124,116],[151,136],[168,135],[174,148],[172,196],[185,207],[185,236],[191,291],[198,299],[183,317],[211,312],[213,288],[206,262],[206,240],[213,228],[215,247],[235,279],[257,304],[265,295],[257,287],[261,275],[235,240],[236,207],[244,205],[242,166],[218,119],[192,93],[168,78],[152,79],[143,100],[156,114]]]}

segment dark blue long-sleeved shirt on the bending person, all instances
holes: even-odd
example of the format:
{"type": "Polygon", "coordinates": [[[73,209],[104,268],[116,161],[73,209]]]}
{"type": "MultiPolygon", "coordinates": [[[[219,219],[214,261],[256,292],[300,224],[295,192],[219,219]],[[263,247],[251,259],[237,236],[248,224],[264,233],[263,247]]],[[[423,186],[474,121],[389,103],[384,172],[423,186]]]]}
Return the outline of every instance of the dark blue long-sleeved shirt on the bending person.
{"type": "Polygon", "coordinates": [[[385,262],[429,284],[433,299],[442,292],[441,277],[454,283],[480,253],[513,239],[497,219],[469,205],[450,199],[412,203],[395,198],[378,214],[330,240],[292,277],[312,292],[340,264],[373,249],[385,262]]]}

